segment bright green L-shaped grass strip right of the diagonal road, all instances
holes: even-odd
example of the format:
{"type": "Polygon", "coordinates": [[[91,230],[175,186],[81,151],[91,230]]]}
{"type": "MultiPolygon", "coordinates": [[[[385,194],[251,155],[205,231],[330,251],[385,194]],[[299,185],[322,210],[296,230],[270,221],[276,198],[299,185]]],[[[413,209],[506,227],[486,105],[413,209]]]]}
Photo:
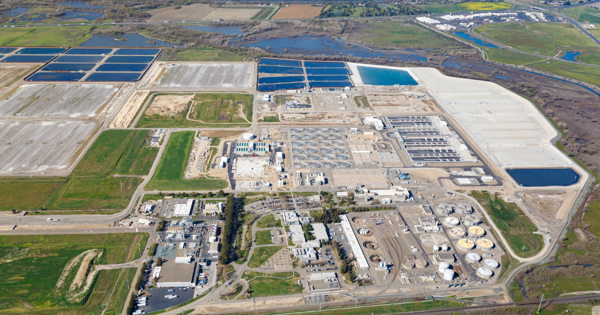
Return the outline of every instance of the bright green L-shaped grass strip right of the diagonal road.
{"type": "Polygon", "coordinates": [[[218,190],[227,187],[224,179],[184,179],[185,166],[194,143],[195,131],[171,134],[169,143],[146,190],[218,190]]]}

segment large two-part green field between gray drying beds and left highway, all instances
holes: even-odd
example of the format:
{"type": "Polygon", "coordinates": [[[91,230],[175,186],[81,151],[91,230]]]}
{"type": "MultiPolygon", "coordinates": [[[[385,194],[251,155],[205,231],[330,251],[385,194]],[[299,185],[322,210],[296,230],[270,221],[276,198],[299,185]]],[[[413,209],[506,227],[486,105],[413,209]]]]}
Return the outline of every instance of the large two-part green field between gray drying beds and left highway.
{"type": "Polygon", "coordinates": [[[144,145],[149,136],[147,130],[104,131],[67,178],[0,179],[0,210],[123,209],[142,179],[113,175],[148,175],[158,152],[144,145]]]}

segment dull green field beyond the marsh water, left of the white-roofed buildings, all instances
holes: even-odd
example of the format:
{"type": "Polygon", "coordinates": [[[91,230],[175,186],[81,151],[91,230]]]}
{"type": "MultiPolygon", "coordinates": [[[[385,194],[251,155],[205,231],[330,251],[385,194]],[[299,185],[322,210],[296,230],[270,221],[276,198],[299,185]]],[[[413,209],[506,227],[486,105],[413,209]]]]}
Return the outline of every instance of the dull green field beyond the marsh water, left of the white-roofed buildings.
{"type": "Polygon", "coordinates": [[[391,45],[427,49],[451,47],[457,43],[430,29],[404,22],[365,23],[365,27],[361,28],[358,33],[352,33],[349,40],[368,41],[376,46],[391,45]]]}

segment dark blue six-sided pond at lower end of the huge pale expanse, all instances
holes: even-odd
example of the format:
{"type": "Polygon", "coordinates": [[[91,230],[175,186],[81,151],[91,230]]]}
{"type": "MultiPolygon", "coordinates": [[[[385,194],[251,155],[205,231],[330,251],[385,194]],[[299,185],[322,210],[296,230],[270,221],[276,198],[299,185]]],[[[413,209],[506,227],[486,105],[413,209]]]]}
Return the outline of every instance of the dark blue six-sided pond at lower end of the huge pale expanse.
{"type": "Polygon", "coordinates": [[[509,169],[515,181],[524,187],[568,186],[579,179],[572,169],[509,169]]]}

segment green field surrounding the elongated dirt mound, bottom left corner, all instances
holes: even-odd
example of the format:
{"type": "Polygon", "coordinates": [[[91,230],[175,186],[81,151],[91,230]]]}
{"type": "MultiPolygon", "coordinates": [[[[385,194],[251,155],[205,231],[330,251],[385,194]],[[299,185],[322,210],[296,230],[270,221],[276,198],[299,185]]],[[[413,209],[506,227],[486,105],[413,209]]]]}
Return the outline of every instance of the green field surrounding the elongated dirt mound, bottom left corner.
{"type": "MultiPolygon", "coordinates": [[[[64,302],[52,295],[56,281],[60,277],[67,262],[78,254],[91,248],[102,248],[104,254],[97,259],[97,264],[122,263],[135,259],[134,252],[137,243],[146,245],[148,235],[145,233],[127,234],[85,234],[85,235],[10,235],[0,236],[0,266],[3,280],[0,281],[0,311],[22,313],[27,311],[23,304],[29,304],[36,310],[71,310],[64,308],[64,302]]],[[[96,282],[97,288],[92,290],[89,299],[91,304],[71,304],[66,306],[81,306],[74,308],[76,314],[100,314],[98,302],[103,299],[103,304],[109,302],[107,296],[100,296],[93,292],[115,288],[109,302],[111,310],[122,308],[127,290],[119,287],[124,284],[125,277],[133,277],[135,269],[126,269],[119,278],[115,287],[116,277],[114,272],[121,270],[101,272],[96,282]],[[133,272],[130,272],[133,270],[133,272]],[[104,289],[103,289],[104,288],[104,289]],[[121,304],[121,305],[119,305],[121,304]]]]}

